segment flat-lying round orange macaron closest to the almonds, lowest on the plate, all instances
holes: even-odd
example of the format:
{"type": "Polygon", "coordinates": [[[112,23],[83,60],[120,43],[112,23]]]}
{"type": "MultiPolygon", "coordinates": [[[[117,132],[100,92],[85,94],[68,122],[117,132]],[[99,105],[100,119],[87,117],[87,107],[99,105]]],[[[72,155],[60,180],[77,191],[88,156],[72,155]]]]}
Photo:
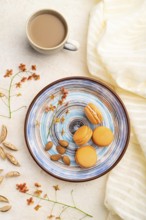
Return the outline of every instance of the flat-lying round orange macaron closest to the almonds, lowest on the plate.
{"type": "Polygon", "coordinates": [[[75,160],[82,168],[93,167],[97,162],[96,150],[90,145],[80,147],[76,152],[75,160]]]}

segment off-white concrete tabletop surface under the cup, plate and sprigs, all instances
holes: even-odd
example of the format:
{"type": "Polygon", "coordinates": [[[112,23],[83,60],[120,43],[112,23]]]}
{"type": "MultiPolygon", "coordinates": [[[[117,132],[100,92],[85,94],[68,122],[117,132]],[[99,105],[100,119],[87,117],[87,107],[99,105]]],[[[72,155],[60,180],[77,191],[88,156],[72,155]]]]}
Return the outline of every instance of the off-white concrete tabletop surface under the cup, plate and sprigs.
{"type": "MultiPolygon", "coordinates": [[[[13,99],[13,106],[29,106],[33,97],[47,84],[66,76],[89,76],[86,65],[86,38],[88,30],[89,12],[96,3],[94,0],[1,0],[0,1],[0,87],[7,87],[8,79],[3,78],[7,68],[17,70],[21,62],[30,66],[36,64],[41,80],[27,83],[20,92],[23,96],[13,99]],[[70,28],[70,38],[80,43],[80,50],[77,53],[61,51],[52,56],[44,56],[36,53],[30,48],[26,35],[25,24],[27,18],[36,10],[53,8],[60,11],[67,19],[70,28]]],[[[3,104],[0,104],[0,113],[5,112],[3,104]]],[[[61,191],[58,192],[58,199],[71,203],[69,192],[74,189],[74,196],[78,206],[91,213],[94,220],[105,220],[107,210],[104,207],[104,193],[107,176],[85,183],[68,183],[57,180],[45,172],[31,158],[24,141],[24,119],[26,110],[17,112],[13,119],[0,118],[0,125],[8,127],[8,140],[19,147],[15,156],[19,159],[21,177],[8,179],[0,185],[0,194],[9,198],[12,209],[7,213],[0,213],[1,220],[45,220],[51,206],[48,203],[41,203],[43,208],[35,212],[32,206],[26,205],[24,194],[15,190],[15,184],[27,182],[32,185],[40,182],[44,192],[54,196],[52,186],[58,184],[61,191]]],[[[0,169],[5,172],[15,169],[7,161],[0,159],[0,169]]],[[[0,204],[1,205],[1,204],[0,204]]],[[[55,212],[58,213],[55,208],[55,212]]],[[[63,220],[78,220],[82,216],[68,210],[63,215],[63,220]]],[[[87,219],[87,218],[86,218],[87,219]]]]}

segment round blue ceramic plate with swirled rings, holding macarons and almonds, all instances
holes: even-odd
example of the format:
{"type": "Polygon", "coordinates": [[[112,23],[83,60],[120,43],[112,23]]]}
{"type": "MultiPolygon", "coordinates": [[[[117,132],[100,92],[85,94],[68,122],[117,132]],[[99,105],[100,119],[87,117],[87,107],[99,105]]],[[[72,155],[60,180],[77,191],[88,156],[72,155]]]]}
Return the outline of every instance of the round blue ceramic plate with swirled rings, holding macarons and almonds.
{"type": "Polygon", "coordinates": [[[124,155],[129,142],[130,126],[126,109],[107,85],[90,78],[64,78],[45,87],[32,101],[25,120],[25,139],[28,149],[37,164],[47,173],[66,181],[88,181],[110,171],[124,155]],[[62,88],[68,94],[62,100],[62,88]],[[90,169],[80,168],[74,159],[78,148],[73,142],[74,132],[82,125],[91,124],[84,114],[84,107],[95,104],[103,115],[103,122],[98,126],[106,126],[114,133],[114,141],[108,147],[99,147],[92,140],[98,155],[97,164],[90,169]],[[59,104],[58,104],[59,103],[59,104]],[[56,154],[58,140],[69,142],[66,155],[71,165],[62,160],[53,162],[50,155],[56,154]],[[54,146],[45,151],[45,145],[52,141],[54,146]]]}

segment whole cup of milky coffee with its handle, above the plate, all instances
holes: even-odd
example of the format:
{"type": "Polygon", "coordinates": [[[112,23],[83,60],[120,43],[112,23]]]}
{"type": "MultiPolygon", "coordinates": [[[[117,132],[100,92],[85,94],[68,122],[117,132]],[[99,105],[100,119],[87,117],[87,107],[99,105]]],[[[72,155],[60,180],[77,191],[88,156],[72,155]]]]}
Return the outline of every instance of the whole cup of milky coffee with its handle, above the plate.
{"type": "Polygon", "coordinates": [[[68,42],[68,25],[57,11],[43,9],[35,12],[27,22],[26,34],[31,46],[43,54],[62,49],[77,51],[78,46],[68,42]]]}

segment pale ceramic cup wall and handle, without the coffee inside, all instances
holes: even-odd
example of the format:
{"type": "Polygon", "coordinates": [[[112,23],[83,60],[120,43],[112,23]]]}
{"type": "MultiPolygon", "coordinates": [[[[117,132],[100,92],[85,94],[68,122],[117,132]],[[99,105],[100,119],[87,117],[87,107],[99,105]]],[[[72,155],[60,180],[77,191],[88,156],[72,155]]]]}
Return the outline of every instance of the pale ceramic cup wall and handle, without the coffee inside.
{"type": "Polygon", "coordinates": [[[71,42],[68,41],[68,33],[69,33],[69,30],[68,30],[68,24],[65,20],[65,18],[57,11],[55,10],[52,10],[52,9],[43,9],[43,10],[40,10],[40,11],[37,11],[35,12],[33,15],[31,15],[31,17],[28,19],[27,21],[27,25],[26,25],[26,35],[27,35],[27,38],[28,38],[28,41],[30,43],[30,45],[38,52],[40,53],[43,53],[43,54],[53,54],[53,53],[56,53],[62,49],[66,49],[66,50],[70,50],[70,51],[77,51],[78,48],[79,48],[79,44],[78,42],[75,42],[75,44],[72,44],[71,42]],[[64,26],[65,26],[65,29],[66,29],[66,35],[65,35],[65,38],[63,39],[63,41],[58,44],[57,46],[55,47],[50,47],[50,48],[46,48],[46,47],[41,47],[39,45],[37,45],[31,38],[30,36],[30,24],[31,24],[31,21],[37,17],[38,15],[41,15],[41,14],[52,14],[54,16],[56,16],[57,18],[59,18],[64,26]]]}

